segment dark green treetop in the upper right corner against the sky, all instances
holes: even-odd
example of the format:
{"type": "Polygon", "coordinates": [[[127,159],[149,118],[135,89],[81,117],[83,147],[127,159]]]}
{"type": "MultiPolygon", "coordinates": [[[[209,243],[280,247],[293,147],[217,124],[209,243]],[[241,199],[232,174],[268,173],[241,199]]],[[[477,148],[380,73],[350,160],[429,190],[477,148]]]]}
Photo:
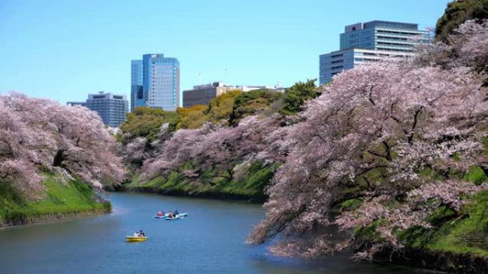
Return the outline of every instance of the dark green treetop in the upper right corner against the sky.
{"type": "Polygon", "coordinates": [[[439,20],[435,28],[435,38],[437,41],[447,41],[447,36],[454,31],[460,24],[469,19],[488,18],[488,0],[459,0],[447,4],[447,9],[439,20]]]}

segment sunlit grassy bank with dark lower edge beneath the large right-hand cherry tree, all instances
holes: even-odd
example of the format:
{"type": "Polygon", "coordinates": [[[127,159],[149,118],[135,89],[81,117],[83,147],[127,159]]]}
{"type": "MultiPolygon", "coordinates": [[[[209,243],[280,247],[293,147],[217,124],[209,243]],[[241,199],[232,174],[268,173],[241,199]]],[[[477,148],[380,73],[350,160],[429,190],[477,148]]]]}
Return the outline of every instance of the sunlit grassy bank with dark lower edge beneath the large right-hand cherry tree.
{"type": "MultiPolygon", "coordinates": [[[[475,166],[460,176],[473,184],[483,184],[488,182],[487,175],[475,166]]],[[[360,204],[360,199],[350,199],[340,204],[339,210],[360,204]]],[[[442,206],[430,216],[429,222],[432,228],[412,227],[397,232],[405,248],[397,252],[385,247],[375,254],[375,260],[448,273],[488,273],[488,191],[471,197],[457,213],[442,206]]],[[[365,245],[377,242],[377,223],[356,228],[355,238],[365,245]]]]}

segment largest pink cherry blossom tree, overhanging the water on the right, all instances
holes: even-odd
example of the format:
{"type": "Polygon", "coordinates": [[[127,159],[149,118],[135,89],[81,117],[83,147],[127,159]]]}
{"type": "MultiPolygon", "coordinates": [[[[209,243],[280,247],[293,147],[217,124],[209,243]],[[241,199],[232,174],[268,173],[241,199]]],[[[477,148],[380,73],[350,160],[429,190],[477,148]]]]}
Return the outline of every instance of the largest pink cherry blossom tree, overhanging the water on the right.
{"type": "MultiPolygon", "coordinates": [[[[459,47],[479,39],[469,36],[459,47]]],[[[358,253],[370,258],[382,245],[402,248],[395,231],[428,228],[427,216],[441,204],[457,212],[464,196],[487,189],[451,175],[488,167],[483,77],[454,67],[372,63],[337,75],[301,114],[303,122],[268,136],[274,142],[263,157],[285,163],[250,243],[274,239],[270,249],[278,255],[328,254],[354,242],[331,238],[330,228],[381,221],[380,240],[358,253]],[[332,214],[350,199],[362,205],[332,214]]]]}

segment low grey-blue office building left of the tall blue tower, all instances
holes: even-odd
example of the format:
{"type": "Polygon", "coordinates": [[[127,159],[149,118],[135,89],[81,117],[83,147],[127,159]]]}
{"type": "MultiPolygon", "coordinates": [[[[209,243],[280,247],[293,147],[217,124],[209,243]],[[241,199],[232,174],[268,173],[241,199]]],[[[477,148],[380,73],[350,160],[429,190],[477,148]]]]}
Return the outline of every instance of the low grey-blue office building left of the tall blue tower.
{"type": "Polygon", "coordinates": [[[128,112],[128,101],[125,95],[113,93],[88,94],[86,102],[67,102],[66,105],[81,105],[98,113],[103,124],[118,127],[126,120],[128,112]]]}

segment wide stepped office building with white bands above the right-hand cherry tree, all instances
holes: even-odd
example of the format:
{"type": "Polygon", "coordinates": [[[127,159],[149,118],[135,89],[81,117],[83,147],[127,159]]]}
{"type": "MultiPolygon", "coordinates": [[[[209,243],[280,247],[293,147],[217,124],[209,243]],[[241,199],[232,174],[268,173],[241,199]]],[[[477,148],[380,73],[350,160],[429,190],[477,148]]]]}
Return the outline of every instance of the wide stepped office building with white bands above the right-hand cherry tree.
{"type": "Polygon", "coordinates": [[[370,21],[345,26],[340,50],[320,56],[320,85],[360,63],[413,56],[418,43],[429,43],[429,32],[418,30],[416,23],[370,21]]]}

